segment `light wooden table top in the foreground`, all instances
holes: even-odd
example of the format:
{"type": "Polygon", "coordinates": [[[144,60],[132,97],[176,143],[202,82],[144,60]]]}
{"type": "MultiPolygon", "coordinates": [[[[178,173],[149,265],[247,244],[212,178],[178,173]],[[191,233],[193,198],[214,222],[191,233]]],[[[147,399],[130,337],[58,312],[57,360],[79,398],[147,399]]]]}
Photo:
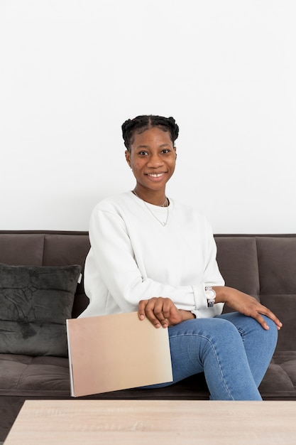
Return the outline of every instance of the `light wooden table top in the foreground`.
{"type": "Polygon", "coordinates": [[[4,445],[296,444],[295,402],[28,400],[4,445]]]}

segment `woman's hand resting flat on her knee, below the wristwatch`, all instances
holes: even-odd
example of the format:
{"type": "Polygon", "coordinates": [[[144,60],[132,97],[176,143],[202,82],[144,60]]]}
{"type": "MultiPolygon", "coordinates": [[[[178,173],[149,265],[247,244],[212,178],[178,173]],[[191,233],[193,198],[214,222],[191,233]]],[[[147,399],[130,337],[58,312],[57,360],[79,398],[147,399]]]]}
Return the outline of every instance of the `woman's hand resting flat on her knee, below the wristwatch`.
{"type": "Polygon", "coordinates": [[[261,314],[273,320],[278,329],[283,326],[278,317],[253,296],[226,286],[213,286],[213,289],[216,291],[216,303],[226,303],[234,311],[239,311],[246,316],[255,318],[264,329],[269,328],[261,314]]]}

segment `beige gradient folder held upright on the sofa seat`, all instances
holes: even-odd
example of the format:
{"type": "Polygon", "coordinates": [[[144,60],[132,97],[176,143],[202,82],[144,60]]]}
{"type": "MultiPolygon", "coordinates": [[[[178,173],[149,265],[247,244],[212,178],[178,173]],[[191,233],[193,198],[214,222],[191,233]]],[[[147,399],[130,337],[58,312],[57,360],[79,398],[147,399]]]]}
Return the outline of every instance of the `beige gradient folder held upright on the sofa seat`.
{"type": "Polygon", "coordinates": [[[71,395],[172,382],[168,329],[138,313],[67,320],[71,395]]]}

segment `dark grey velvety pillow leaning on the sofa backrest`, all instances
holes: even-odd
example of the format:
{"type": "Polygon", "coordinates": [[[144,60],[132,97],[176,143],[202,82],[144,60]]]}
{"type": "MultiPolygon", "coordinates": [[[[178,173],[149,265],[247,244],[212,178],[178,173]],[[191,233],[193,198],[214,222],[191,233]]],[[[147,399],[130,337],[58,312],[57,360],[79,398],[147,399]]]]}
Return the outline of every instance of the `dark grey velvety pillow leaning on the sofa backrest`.
{"type": "Polygon", "coordinates": [[[0,264],[0,353],[67,357],[81,269],[0,264]]]}

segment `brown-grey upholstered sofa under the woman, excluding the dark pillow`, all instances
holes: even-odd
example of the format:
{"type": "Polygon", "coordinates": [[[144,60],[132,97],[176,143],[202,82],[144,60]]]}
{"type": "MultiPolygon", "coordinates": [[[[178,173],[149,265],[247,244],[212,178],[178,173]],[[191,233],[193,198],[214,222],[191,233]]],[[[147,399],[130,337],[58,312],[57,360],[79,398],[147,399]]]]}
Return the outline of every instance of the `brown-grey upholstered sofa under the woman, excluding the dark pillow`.
{"type": "MultiPolygon", "coordinates": [[[[263,399],[296,400],[296,235],[215,235],[215,239],[226,285],[256,296],[283,321],[273,360],[259,388],[263,399]]],[[[0,231],[1,264],[80,264],[83,272],[88,250],[87,232],[0,231]]],[[[72,317],[77,317],[87,303],[82,280],[75,291],[72,317]]],[[[228,310],[225,307],[224,311],[228,310]]],[[[0,441],[25,400],[69,398],[66,355],[0,351],[0,441]]],[[[131,389],[85,398],[207,400],[209,392],[204,376],[199,374],[157,390],[131,389]]]]}

